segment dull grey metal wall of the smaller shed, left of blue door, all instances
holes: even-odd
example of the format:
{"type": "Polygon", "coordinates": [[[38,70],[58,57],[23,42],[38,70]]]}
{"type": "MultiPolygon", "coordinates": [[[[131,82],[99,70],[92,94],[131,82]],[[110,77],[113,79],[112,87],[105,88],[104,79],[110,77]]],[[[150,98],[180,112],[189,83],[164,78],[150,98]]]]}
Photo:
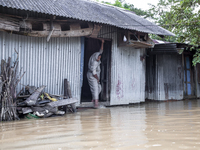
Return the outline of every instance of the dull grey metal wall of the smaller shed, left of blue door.
{"type": "Polygon", "coordinates": [[[183,99],[182,56],[174,53],[149,55],[147,58],[146,98],[183,99]]]}

